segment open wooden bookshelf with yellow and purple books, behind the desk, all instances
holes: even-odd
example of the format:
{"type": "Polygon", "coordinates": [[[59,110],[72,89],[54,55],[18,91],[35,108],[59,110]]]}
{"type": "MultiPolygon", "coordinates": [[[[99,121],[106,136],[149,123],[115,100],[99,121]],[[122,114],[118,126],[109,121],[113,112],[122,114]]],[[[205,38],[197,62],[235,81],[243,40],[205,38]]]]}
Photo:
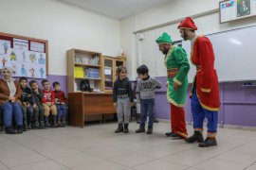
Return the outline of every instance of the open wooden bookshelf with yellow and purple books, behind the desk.
{"type": "Polygon", "coordinates": [[[102,56],[99,52],[70,49],[66,52],[67,92],[80,92],[80,82],[87,78],[93,92],[102,92],[102,56]]]}

